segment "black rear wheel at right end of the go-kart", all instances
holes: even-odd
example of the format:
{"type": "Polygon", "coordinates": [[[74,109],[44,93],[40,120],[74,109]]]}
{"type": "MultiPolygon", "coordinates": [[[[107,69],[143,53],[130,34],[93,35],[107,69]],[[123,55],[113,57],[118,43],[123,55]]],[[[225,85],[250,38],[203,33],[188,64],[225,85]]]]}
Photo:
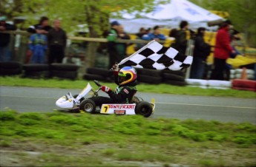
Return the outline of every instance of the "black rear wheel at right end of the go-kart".
{"type": "Polygon", "coordinates": [[[151,104],[146,101],[140,101],[135,108],[135,113],[137,115],[143,115],[143,117],[149,117],[152,112],[151,104]]]}

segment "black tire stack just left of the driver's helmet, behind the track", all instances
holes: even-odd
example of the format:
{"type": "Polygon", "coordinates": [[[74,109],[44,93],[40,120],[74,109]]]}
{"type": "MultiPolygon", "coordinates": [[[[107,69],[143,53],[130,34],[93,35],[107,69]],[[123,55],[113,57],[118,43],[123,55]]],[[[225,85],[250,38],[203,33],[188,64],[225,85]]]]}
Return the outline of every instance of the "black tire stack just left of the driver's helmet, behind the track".
{"type": "Polygon", "coordinates": [[[86,69],[83,78],[85,80],[111,81],[113,72],[109,69],[91,67],[86,69]]]}

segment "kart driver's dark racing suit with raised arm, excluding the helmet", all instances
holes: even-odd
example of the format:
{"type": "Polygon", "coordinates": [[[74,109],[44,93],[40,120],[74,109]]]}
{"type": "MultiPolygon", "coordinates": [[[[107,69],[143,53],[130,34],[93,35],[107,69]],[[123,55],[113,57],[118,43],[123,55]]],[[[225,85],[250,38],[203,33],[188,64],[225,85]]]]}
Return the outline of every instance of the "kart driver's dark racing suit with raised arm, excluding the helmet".
{"type": "MultiPolygon", "coordinates": [[[[118,76],[115,76],[115,83],[118,83],[118,76]]],[[[125,85],[119,85],[116,87],[115,91],[110,90],[108,92],[108,97],[98,96],[92,97],[91,100],[94,101],[96,106],[102,106],[103,103],[131,103],[132,98],[134,97],[135,93],[137,92],[136,89],[137,81],[132,83],[127,83],[125,85]]]]}

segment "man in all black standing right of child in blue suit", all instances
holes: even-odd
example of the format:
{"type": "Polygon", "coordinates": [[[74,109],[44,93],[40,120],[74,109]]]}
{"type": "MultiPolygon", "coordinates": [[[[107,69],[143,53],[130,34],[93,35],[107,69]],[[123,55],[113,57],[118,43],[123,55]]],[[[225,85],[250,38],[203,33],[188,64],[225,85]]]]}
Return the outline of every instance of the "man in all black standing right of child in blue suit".
{"type": "Polygon", "coordinates": [[[49,64],[62,63],[65,55],[67,35],[60,25],[59,20],[53,21],[53,28],[48,33],[49,64]]]}

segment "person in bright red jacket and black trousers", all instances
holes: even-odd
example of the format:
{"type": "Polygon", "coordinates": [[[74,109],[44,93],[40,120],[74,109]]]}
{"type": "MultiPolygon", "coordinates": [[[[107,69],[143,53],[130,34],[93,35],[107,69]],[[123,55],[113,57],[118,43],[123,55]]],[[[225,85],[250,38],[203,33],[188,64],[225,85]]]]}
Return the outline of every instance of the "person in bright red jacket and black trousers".
{"type": "Polygon", "coordinates": [[[224,70],[226,69],[226,59],[234,53],[230,44],[229,29],[230,22],[223,22],[217,31],[214,48],[214,69],[211,72],[212,80],[224,80],[224,70]]]}

